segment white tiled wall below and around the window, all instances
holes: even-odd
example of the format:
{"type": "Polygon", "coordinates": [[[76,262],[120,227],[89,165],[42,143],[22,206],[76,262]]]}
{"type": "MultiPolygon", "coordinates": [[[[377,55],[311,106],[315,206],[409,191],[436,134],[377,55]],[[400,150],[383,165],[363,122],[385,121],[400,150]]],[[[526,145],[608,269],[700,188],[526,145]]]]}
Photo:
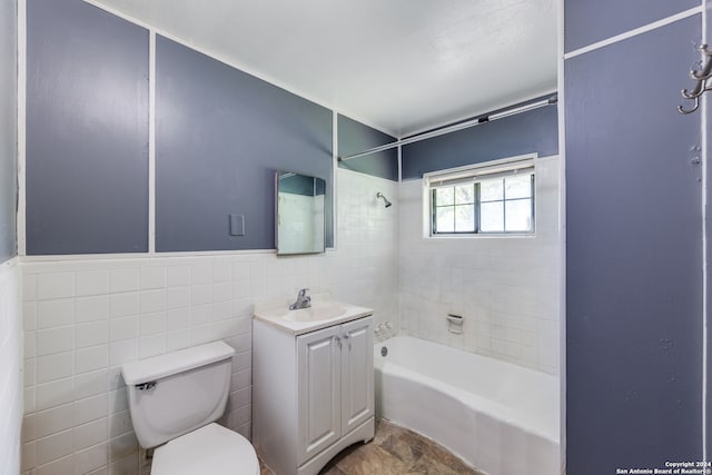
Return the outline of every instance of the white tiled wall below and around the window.
{"type": "Polygon", "coordinates": [[[400,184],[404,333],[558,375],[558,161],[536,162],[534,237],[424,238],[423,181],[400,184]]]}

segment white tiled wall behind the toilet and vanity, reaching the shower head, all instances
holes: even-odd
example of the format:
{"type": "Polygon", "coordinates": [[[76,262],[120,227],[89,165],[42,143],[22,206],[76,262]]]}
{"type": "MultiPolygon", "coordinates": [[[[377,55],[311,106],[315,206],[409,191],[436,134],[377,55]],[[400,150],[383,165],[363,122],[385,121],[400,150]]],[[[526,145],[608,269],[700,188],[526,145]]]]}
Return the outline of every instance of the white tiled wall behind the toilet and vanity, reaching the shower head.
{"type": "Polygon", "coordinates": [[[22,264],[26,417],[22,471],[146,473],[120,365],[224,339],[236,349],[222,423],[249,436],[254,303],[313,293],[398,315],[393,181],[337,171],[337,250],[278,258],[27,258],[22,264]]]}

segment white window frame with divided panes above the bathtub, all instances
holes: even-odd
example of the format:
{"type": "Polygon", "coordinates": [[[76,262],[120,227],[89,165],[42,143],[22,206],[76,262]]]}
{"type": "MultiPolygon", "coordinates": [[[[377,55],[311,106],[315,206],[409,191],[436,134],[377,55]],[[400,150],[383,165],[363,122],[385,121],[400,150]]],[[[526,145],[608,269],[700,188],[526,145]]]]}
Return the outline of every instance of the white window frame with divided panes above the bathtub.
{"type": "MultiPolygon", "coordinates": [[[[428,238],[457,238],[457,237],[532,237],[536,232],[536,159],[537,154],[528,154],[516,157],[504,158],[500,160],[491,160],[476,165],[449,168],[445,170],[438,170],[423,175],[424,185],[424,237],[428,238]],[[506,186],[503,182],[503,195],[501,200],[490,200],[484,202],[501,202],[503,206],[503,229],[494,231],[482,230],[482,196],[481,196],[481,182],[487,179],[493,179],[497,175],[504,180],[507,176],[517,174],[518,171],[527,170],[530,175],[530,197],[525,198],[506,198],[506,186]],[[453,197],[452,205],[437,205],[436,190],[465,184],[472,184],[474,187],[474,202],[472,206],[474,230],[466,231],[437,231],[437,208],[452,207],[453,214],[456,212],[457,202],[453,197]],[[506,204],[510,201],[518,201],[530,199],[531,200],[531,219],[532,225],[530,230],[506,230],[506,204]]],[[[468,204],[467,204],[468,205],[468,204]]],[[[466,206],[466,205],[459,205],[466,206]]],[[[455,229],[455,222],[453,222],[453,229],[455,229]]]]}

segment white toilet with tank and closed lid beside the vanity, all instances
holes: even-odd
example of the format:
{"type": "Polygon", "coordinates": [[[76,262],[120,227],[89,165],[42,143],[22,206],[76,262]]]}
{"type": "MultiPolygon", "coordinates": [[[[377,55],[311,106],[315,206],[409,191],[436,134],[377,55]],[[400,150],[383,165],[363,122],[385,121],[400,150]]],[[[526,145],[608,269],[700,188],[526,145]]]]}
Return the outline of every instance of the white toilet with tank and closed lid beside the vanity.
{"type": "Polygon", "coordinates": [[[136,437],[156,447],[151,475],[259,475],[249,441],[216,424],[234,354],[215,342],[122,366],[136,437]]]}

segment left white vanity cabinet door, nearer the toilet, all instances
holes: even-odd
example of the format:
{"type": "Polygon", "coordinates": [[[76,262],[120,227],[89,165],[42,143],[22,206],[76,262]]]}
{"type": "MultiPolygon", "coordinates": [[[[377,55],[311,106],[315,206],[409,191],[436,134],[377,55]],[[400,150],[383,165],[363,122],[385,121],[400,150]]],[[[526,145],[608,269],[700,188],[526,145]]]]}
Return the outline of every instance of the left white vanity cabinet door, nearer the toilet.
{"type": "Polygon", "coordinates": [[[336,326],[297,337],[298,465],[342,436],[339,335],[336,326]]]}

